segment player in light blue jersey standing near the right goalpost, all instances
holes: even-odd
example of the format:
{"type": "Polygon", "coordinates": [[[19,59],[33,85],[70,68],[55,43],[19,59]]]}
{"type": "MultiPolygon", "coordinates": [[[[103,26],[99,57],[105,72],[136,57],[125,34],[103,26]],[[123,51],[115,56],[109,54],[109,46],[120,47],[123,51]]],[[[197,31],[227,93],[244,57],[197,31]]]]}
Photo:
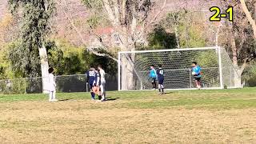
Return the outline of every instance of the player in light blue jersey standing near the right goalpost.
{"type": "Polygon", "coordinates": [[[198,88],[198,90],[201,89],[201,78],[202,78],[202,72],[201,67],[198,66],[197,62],[192,62],[192,75],[194,76],[195,84],[198,88]]]}

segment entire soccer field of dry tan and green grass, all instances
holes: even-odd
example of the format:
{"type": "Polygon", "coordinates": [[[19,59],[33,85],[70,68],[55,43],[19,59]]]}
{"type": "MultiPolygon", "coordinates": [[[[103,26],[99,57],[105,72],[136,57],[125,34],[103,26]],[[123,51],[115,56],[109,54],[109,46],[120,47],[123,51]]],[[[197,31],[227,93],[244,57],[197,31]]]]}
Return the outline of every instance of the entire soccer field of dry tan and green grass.
{"type": "Polygon", "coordinates": [[[254,143],[256,88],[0,95],[1,143],[254,143]]]}

